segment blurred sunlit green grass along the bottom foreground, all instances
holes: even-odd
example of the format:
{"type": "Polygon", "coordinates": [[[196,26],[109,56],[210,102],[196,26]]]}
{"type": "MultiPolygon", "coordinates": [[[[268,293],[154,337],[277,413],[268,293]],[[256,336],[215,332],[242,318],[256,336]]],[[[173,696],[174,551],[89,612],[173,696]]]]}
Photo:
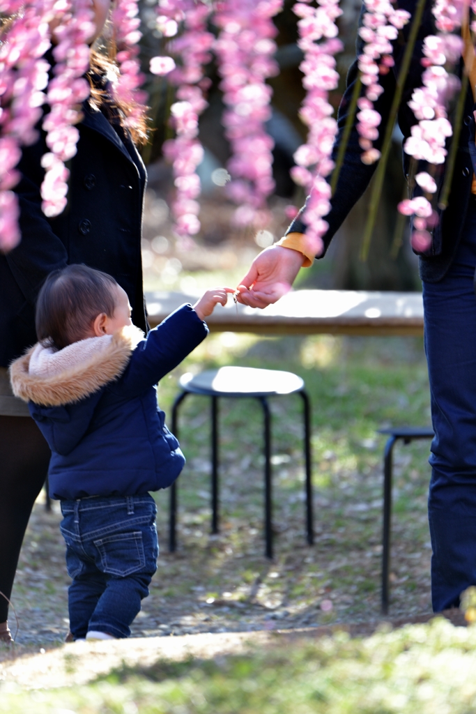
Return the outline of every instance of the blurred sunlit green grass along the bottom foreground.
{"type": "MultiPolygon", "coordinates": [[[[65,668],[75,663],[65,659],[65,668]]],[[[75,688],[4,690],[9,714],[470,714],[476,630],[445,620],[276,643],[247,655],[123,667],[75,688]]]]}

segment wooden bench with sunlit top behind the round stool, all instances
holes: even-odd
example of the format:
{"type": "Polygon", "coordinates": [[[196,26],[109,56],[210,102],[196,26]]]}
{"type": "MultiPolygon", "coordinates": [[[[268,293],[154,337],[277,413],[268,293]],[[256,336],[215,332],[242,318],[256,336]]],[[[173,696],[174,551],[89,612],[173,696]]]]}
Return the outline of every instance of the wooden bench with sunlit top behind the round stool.
{"type": "MultiPolygon", "coordinates": [[[[146,293],[148,319],[157,325],[183,303],[194,303],[202,292],[146,293]]],[[[207,318],[212,332],[250,332],[260,335],[403,335],[423,334],[421,293],[350,290],[296,290],[264,310],[233,303],[218,305],[207,318]]]]}

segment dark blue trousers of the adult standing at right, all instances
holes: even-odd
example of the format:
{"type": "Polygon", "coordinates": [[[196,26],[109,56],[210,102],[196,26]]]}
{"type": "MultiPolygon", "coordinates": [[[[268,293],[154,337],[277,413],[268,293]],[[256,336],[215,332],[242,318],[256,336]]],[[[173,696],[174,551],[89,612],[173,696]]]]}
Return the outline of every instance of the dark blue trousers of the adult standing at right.
{"type": "Polygon", "coordinates": [[[439,283],[424,283],[430,376],[432,477],[428,516],[435,612],[460,604],[476,585],[476,200],[455,261],[439,283]]]}

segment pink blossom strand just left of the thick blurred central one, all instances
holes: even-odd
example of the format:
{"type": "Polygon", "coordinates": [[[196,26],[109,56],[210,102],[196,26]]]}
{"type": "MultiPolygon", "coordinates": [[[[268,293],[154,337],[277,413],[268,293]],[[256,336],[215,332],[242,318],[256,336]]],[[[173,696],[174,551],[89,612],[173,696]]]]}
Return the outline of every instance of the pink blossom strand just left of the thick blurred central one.
{"type": "Polygon", "coordinates": [[[163,36],[173,38],[168,51],[172,57],[154,57],[151,71],[167,74],[167,79],[177,87],[176,99],[171,106],[171,125],[176,131],[168,139],[163,152],[173,166],[176,195],[172,203],[174,229],[179,236],[193,236],[201,228],[198,220],[200,206],[196,201],[201,183],[196,169],[203,159],[203,147],[198,141],[198,117],[208,106],[204,92],[210,80],[204,76],[204,67],[211,61],[210,50],[215,41],[207,31],[210,4],[203,0],[159,0],[157,26],[163,36]],[[181,34],[178,28],[181,27],[181,34]]]}

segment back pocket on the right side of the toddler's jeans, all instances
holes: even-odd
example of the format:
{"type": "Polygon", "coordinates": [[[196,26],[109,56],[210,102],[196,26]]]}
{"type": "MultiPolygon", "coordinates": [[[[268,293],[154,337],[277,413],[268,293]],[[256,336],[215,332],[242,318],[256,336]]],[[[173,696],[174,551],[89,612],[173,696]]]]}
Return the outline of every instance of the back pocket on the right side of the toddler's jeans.
{"type": "Polygon", "coordinates": [[[142,533],[116,533],[93,541],[101,555],[101,570],[125,577],[142,570],[146,564],[142,533]]]}

